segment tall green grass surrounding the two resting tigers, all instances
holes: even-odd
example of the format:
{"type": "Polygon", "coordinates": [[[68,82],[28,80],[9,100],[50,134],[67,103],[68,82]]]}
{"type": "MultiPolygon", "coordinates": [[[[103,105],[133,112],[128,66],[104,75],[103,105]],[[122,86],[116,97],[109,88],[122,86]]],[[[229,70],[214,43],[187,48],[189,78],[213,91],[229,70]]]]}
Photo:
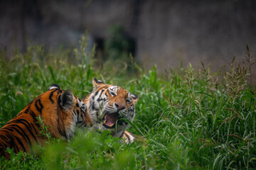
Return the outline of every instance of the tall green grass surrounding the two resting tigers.
{"type": "MultiPolygon", "coordinates": [[[[251,57],[247,50],[247,60],[251,57]]],[[[133,61],[97,67],[85,44],[72,53],[52,55],[29,47],[14,59],[0,54],[0,127],[30,101],[58,84],[83,98],[92,78],[117,84],[139,96],[129,131],[144,135],[147,145],[119,142],[107,132],[76,130],[69,142],[50,140],[39,154],[12,154],[0,169],[255,169],[256,95],[250,67],[230,64],[211,74],[203,64],[144,72],[133,61]],[[69,57],[73,56],[71,61],[69,57]]],[[[249,63],[250,64],[250,63],[249,63]]],[[[11,152],[11,150],[9,150],[11,152]]]]}

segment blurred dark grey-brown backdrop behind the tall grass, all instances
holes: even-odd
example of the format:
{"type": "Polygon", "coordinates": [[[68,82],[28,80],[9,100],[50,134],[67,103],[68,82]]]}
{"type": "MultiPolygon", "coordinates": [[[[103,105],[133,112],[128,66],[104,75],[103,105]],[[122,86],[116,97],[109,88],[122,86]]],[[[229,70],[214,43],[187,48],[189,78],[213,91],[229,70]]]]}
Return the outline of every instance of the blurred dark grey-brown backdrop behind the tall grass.
{"type": "Polygon", "coordinates": [[[1,1],[0,50],[10,58],[29,45],[68,50],[87,34],[98,64],[132,56],[161,72],[181,63],[200,67],[201,61],[218,71],[234,56],[245,60],[246,45],[255,56],[255,9],[255,0],[1,1]]]}

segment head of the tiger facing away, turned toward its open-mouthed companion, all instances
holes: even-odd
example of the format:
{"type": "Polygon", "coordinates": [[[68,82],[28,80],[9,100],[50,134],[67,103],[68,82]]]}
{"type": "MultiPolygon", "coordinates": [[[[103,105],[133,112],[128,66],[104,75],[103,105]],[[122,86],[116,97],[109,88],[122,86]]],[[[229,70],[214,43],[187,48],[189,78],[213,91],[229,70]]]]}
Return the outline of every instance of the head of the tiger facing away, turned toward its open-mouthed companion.
{"type": "Polygon", "coordinates": [[[70,90],[63,91],[60,86],[53,84],[40,96],[40,100],[46,103],[45,112],[42,115],[55,137],[70,140],[73,137],[75,125],[81,127],[92,125],[85,103],[70,90]]]}

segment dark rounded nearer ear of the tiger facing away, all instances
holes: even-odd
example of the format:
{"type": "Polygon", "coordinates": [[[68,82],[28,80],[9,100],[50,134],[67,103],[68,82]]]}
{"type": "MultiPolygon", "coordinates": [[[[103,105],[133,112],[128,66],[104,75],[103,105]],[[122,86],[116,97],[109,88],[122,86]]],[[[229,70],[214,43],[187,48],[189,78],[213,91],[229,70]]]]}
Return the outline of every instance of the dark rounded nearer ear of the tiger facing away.
{"type": "Polygon", "coordinates": [[[74,105],[73,96],[74,95],[70,90],[66,90],[63,92],[63,94],[60,94],[60,107],[63,108],[65,111],[70,111],[74,105]]]}

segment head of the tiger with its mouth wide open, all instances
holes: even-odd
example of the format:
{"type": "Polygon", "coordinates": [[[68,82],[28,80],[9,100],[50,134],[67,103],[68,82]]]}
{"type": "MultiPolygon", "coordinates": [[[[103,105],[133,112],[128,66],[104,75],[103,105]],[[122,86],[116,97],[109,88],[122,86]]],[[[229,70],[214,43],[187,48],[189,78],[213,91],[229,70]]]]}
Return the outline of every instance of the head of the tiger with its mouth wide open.
{"type": "Polygon", "coordinates": [[[114,137],[121,137],[128,123],[135,116],[134,105],[138,96],[120,86],[105,84],[93,79],[93,91],[82,101],[93,121],[93,127],[99,130],[111,130],[114,137]],[[123,120],[124,119],[124,120],[123,120]]]}

